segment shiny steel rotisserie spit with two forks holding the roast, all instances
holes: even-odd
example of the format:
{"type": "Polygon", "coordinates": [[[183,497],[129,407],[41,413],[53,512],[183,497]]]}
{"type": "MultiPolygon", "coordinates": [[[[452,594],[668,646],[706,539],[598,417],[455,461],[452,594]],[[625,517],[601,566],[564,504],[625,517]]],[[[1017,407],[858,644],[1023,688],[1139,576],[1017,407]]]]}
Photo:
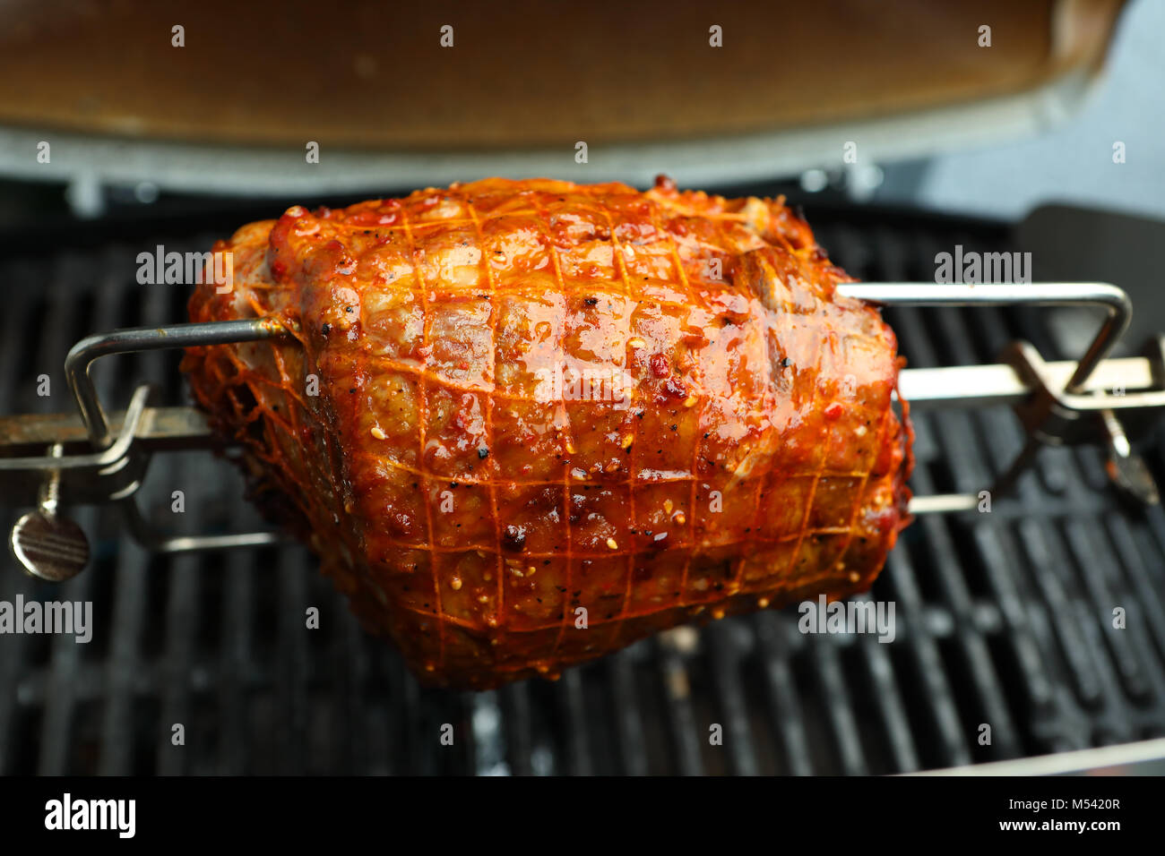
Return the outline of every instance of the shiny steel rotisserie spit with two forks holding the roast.
{"type": "MultiPolygon", "coordinates": [[[[1127,429],[1145,429],[1145,411],[1165,406],[1165,337],[1144,356],[1106,359],[1129,326],[1128,295],[1108,283],[962,285],[935,283],[847,283],[838,291],[881,305],[1008,306],[1083,305],[1106,310],[1092,345],[1079,361],[1045,362],[1025,341],[1012,342],[1000,365],[911,368],[898,390],[913,409],[982,408],[1010,404],[1028,440],[993,493],[1007,493],[1043,444],[1099,444],[1108,448],[1113,481],[1144,503],[1158,502],[1157,487],[1134,455],[1127,429]],[[1115,391],[1114,391],[1115,390],[1115,391]],[[1117,418],[1117,413],[1122,418],[1117,418]],[[1124,418],[1131,417],[1131,418],[1124,418]]],[[[65,360],[77,413],[0,417],[0,482],[13,504],[36,504],[12,529],[10,545],[31,574],[63,580],[89,559],[84,532],[59,512],[61,504],[118,504],[130,533],[156,552],[260,546],[281,540],[275,532],[163,537],[151,531],[134,501],[155,452],[220,445],[205,416],[193,408],[148,405],[139,387],[125,411],[107,417],[90,379],[101,356],[135,351],[226,345],[285,335],[267,319],[177,324],[119,330],[77,342],[65,360]],[[43,451],[42,454],[30,454],[43,451]],[[14,455],[26,457],[14,457],[14,455]]],[[[975,494],[916,496],[912,514],[973,510],[975,494]]]]}

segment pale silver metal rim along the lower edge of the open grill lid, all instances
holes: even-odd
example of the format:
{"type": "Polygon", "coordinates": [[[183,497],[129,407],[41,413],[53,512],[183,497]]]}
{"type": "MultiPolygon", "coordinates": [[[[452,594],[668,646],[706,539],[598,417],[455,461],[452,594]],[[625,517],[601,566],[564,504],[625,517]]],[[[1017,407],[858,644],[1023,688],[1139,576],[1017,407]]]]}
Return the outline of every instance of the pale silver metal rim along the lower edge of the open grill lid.
{"type": "Polygon", "coordinates": [[[94,190],[149,182],[195,193],[249,196],[355,193],[531,175],[650,186],[657,174],[666,172],[685,186],[732,184],[840,169],[846,140],[862,141],[864,162],[884,163],[1030,136],[1075,112],[1096,80],[1090,70],[1073,69],[1038,89],[969,104],[732,137],[596,143],[582,164],[574,161],[573,142],[562,149],[502,151],[334,149],[319,163],[305,164],[302,143],[197,144],[9,126],[0,127],[0,175],[94,190]],[[50,163],[28,154],[42,140],[52,144],[50,163]]]}

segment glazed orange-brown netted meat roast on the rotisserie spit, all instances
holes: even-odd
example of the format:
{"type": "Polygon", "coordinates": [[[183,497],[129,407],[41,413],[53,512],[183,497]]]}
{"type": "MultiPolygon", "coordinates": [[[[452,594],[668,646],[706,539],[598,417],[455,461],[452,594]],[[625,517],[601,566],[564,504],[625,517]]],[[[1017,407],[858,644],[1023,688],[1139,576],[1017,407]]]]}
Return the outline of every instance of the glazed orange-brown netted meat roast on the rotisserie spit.
{"type": "Polygon", "coordinates": [[[894,333],[783,200],[487,179],[216,249],[191,319],[294,340],[191,348],[195,398],[431,682],[863,590],[908,522],[894,333]]]}

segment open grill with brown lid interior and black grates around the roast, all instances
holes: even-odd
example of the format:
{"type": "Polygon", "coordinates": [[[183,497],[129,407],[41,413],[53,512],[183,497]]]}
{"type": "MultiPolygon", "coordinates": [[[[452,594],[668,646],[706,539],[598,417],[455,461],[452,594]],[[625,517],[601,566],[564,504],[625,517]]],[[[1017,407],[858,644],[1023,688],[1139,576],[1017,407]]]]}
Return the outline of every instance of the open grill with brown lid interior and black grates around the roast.
{"type": "MultiPolygon", "coordinates": [[[[911,372],[982,368],[1017,341],[1061,361],[1052,382],[1029,360],[1023,389],[1007,369],[915,388],[932,399],[912,411],[918,519],[857,599],[896,606],[892,642],[802,632],[789,607],[677,628],[557,681],[483,693],[422,687],[391,644],[360,629],[317,559],[269,531],[221,459],[238,450],[213,457],[205,422],[184,410],[181,351],[97,360],[85,420],[64,370],[77,342],[93,355],[112,340],[92,337],[140,327],[132,339],[156,345],[186,321],[190,285],[139,284],[143,250],[204,253],[292,204],[493,175],[645,186],[665,171],[729,197],[784,193],[805,205],[831,259],[867,283],[930,286],[937,254],[961,247],[1036,249],[1036,282],[1131,290],[1143,246],[1093,250],[1114,235],[1151,246],[1157,224],[1089,222],[1089,240],[1066,248],[1065,218],[1040,250],[1030,221],[859,204],[882,181],[878,164],[910,184],[911,158],[1014,141],[1079,111],[1122,0],[977,0],[925,14],[853,0],[795,14],[728,2],[712,14],[644,0],[592,5],[569,28],[558,7],[529,2],[354,0],[345,15],[256,2],[246,14],[219,0],[75,14],[41,0],[0,28],[0,77],[24,84],[0,93],[0,531],[22,521],[13,551],[0,551],[0,604],[93,609],[87,644],[0,634],[0,776],[995,773],[1165,758],[1165,419],[1110,397],[1125,381],[1130,396],[1165,389],[1165,316],[1149,290],[1134,293],[1132,332],[1086,390],[1069,376],[1100,355],[1080,339],[1095,332],[1090,316],[1085,326],[1072,311],[980,298],[885,305],[911,372]],[[793,176],[799,184],[775,183],[793,176]],[[838,184],[846,197],[831,196],[838,184]],[[72,217],[51,213],[65,186],[72,217]],[[1128,370],[1114,373],[1116,361],[1128,370]],[[1002,401],[980,405],[970,381],[984,377],[1009,387],[1007,404],[1039,406],[1017,418],[1002,401]],[[941,384],[962,406],[940,401],[941,384]],[[1047,394],[1065,388],[1114,409],[1072,423],[1047,394]],[[150,422],[157,453],[115,461],[140,472],[105,467],[98,484],[100,467],[78,479],[41,466],[93,454],[90,439],[118,436],[126,413],[162,412],[147,406],[176,416],[150,422]],[[1035,433],[1080,425],[1089,444],[1031,454],[1035,433]],[[41,465],[13,466],[29,457],[41,465]],[[118,503],[70,502],[85,484],[87,498],[107,500],[99,488],[116,479],[118,503]],[[30,505],[43,514],[58,500],[79,529],[37,530],[30,505]],[[219,549],[172,551],[196,543],[219,549]],[[318,629],[304,627],[312,607],[318,629]]],[[[1148,3],[1129,6],[1143,16],[1122,26],[1152,30],[1148,3]]],[[[1088,128],[1087,146],[1100,144],[1088,156],[1137,176],[1153,126],[1108,118],[1120,121],[1088,128]]],[[[1120,314],[1120,292],[1075,291],[1086,292],[1115,299],[1120,314]]]]}

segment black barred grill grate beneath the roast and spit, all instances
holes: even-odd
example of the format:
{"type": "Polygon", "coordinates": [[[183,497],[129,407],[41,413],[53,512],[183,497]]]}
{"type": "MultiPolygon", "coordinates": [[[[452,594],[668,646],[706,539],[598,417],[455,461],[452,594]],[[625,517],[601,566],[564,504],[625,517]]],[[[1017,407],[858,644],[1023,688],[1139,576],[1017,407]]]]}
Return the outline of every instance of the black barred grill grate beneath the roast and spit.
{"type": "MultiPolygon", "coordinates": [[[[61,367],[82,335],[181,321],[186,290],[137,285],[136,254],[204,249],[218,236],[207,224],[235,219],[161,236],[139,222],[140,241],[99,235],[51,252],[45,239],[36,254],[0,241],[0,412],[71,406],[61,367]],[[35,395],[42,373],[49,398],[35,395]]],[[[996,224],[902,212],[820,210],[811,222],[869,280],[930,280],[941,249],[1008,242],[996,224]]],[[[913,366],[993,361],[1021,335],[1054,354],[1025,311],[887,318],[913,366]]],[[[103,401],[125,402],[144,380],[183,403],[177,354],[120,359],[94,370],[103,401]]],[[[920,493],[981,489],[1022,440],[1005,411],[925,413],[916,427],[920,493]]],[[[1162,479],[1162,455],[1150,460],[1162,479]]],[[[155,460],[142,494],[154,522],[260,526],[233,469],[216,462],[207,477],[209,466],[193,453],[155,460]],[[179,489],[186,510],[171,514],[179,489]]],[[[89,645],[0,637],[0,773],[883,773],[1162,736],[1165,515],[1122,509],[1106,486],[1099,454],[1045,450],[1021,482],[1022,515],[1000,505],[916,522],[871,594],[896,603],[892,644],[803,636],[786,609],[648,639],[557,684],[481,694],[421,688],[301,547],[155,558],[112,511],[80,509],[90,571],[52,587],[10,557],[0,564],[0,600],[94,606],[89,645]],[[310,606],[318,630],[304,629],[310,606]],[[1124,630],[1110,625],[1116,606],[1124,630]],[[452,747],[440,742],[446,723],[452,747]],[[709,745],[713,723],[721,747],[709,745]]]]}

